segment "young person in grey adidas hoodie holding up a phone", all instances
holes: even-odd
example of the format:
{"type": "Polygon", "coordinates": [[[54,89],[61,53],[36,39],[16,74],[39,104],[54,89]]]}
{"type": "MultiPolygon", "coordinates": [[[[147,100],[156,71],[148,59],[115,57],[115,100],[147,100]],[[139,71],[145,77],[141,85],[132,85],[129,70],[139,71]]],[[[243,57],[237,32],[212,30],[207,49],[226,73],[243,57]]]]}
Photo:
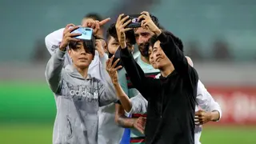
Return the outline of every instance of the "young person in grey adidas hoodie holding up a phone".
{"type": "Polygon", "coordinates": [[[69,24],[63,31],[62,42],[46,66],[46,81],[54,93],[57,115],[54,122],[54,144],[97,144],[98,110],[115,102],[114,86],[106,73],[107,57],[100,58],[106,82],[88,74],[94,59],[95,39],[80,40],[71,34],[78,26],[69,24]],[[70,28],[70,26],[73,26],[70,28]],[[66,51],[66,47],[70,49],[66,51]],[[68,53],[73,64],[65,66],[68,53]]]}

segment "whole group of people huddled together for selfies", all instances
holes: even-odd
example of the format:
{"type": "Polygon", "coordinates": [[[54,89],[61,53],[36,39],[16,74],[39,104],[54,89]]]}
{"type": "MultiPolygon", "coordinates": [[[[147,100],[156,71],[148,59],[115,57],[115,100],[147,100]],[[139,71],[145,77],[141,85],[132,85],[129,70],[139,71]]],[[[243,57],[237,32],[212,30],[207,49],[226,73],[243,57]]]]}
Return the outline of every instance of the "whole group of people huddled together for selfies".
{"type": "Polygon", "coordinates": [[[221,118],[182,40],[146,11],[138,20],[140,27],[127,28],[129,15],[120,14],[104,38],[110,18],[86,16],[90,40],[75,38],[74,24],[46,36],[54,144],[199,144],[202,125],[221,118]]]}

